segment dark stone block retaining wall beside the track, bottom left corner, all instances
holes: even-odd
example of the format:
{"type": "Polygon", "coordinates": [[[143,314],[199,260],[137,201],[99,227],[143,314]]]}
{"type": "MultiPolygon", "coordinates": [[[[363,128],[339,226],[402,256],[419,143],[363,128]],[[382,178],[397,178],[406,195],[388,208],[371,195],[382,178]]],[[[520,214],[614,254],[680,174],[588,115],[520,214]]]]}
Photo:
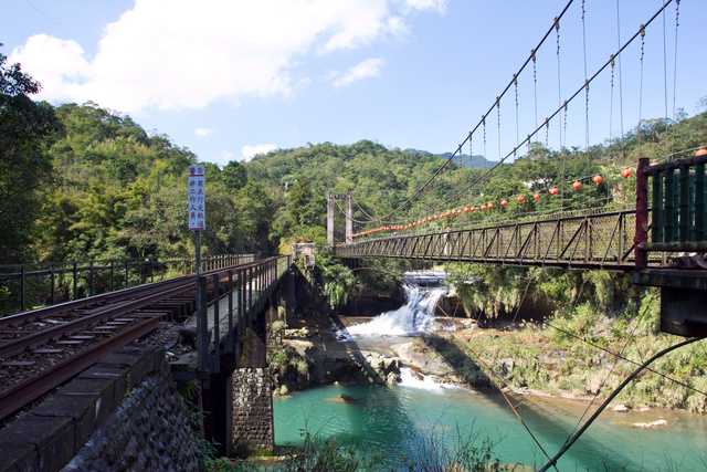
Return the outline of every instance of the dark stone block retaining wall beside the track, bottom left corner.
{"type": "Polygon", "coordinates": [[[0,430],[0,472],[197,470],[163,349],[136,343],[0,430]]]}

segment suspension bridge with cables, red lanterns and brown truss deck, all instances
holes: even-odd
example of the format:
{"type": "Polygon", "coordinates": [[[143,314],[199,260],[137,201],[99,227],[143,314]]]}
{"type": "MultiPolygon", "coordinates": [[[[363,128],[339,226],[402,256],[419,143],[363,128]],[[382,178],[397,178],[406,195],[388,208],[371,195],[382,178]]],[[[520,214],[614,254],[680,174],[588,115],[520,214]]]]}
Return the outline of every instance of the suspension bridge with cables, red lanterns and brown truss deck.
{"type": "MultiPolygon", "coordinates": [[[[506,87],[492,99],[492,105],[481,120],[468,132],[456,150],[409,198],[382,216],[376,216],[374,204],[359,204],[355,192],[329,192],[328,237],[334,252],[341,259],[397,258],[431,262],[458,262],[482,264],[510,264],[521,266],[548,266],[576,270],[609,270],[633,274],[633,282],[662,287],[662,327],[683,336],[707,334],[707,316],[700,310],[707,302],[703,291],[707,289],[707,250],[705,238],[706,188],[705,162],[707,150],[703,143],[678,144],[671,139],[677,122],[667,117],[668,75],[673,75],[673,108],[675,108],[675,83],[678,55],[679,2],[666,1],[657,11],[648,12],[645,21],[634,34],[606,52],[605,61],[593,73],[587,69],[585,13],[581,2],[581,29],[584,42],[584,77],[577,88],[562,96],[560,76],[561,35],[560,24],[572,1],[556,17],[542,40],[531,49],[525,63],[513,74],[506,87]],[[674,7],[674,56],[673,71],[667,60],[666,15],[674,7]],[[661,22],[662,19],[662,34],[661,22]],[[655,33],[655,34],[654,34],[655,33]],[[667,145],[659,148],[644,132],[644,122],[639,112],[634,146],[630,155],[624,149],[622,105],[623,87],[640,92],[639,108],[643,106],[644,62],[646,36],[663,41],[661,57],[664,64],[665,114],[664,125],[667,145]],[[662,35],[662,39],[659,38],[662,35]],[[550,39],[555,39],[555,44],[550,39]],[[549,50],[549,52],[548,52],[549,50]],[[548,117],[538,120],[538,64],[542,53],[557,56],[558,105],[548,111],[548,117]],[[627,56],[632,54],[632,56],[627,56]],[[635,56],[637,55],[637,57],[635,56]],[[622,84],[621,60],[633,59],[639,69],[637,84],[622,84]],[[669,74],[672,72],[672,74],[669,74]],[[535,88],[535,114],[524,119],[519,112],[519,90],[525,81],[535,88]],[[621,116],[621,137],[609,136],[605,148],[610,158],[620,161],[599,166],[595,149],[589,145],[590,86],[593,90],[601,81],[609,82],[609,116],[599,118],[611,123],[614,114],[621,116]],[[615,88],[619,88],[618,91],[615,88]],[[584,98],[583,101],[581,98],[584,98]],[[505,102],[515,105],[515,141],[502,139],[502,107],[505,102]],[[582,103],[583,102],[583,103],[582,103]],[[570,118],[570,111],[583,112],[583,119],[570,118]],[[608,119],[606,119],[608,118],[608,119]],[[583,120],[585,144],[583,149],[567,149],[568,122],[583,120]],[[496,123],[493,123],[496,122],[496,123]],[[521,132],[520,123],[530,123],[521,132]],[[494,126],[495,124],[496,129],[494,126]],[[552,160],[549,151],[550,129],[561,149],[552,160]],[[431,198],[435,181],[445,178],[462,167],[464,148],[474,154],[474,143],[483,140],[487,150],[489,132],[498,138],[500,159],[490,169],[475,172],[471,181],[456,185],[442,202],[431,198]],[[526,135],[525,139],[519,136],[526,135]],[[643,141],[642,141],[643,139],[643,141]],[[636,143],[637,140],[637,143],[636,143]],[[508,147],[504,155],[502,149],[508,147]],[[527,150],[526,150],[527,147],[527,150]],[[538,154],[537,149],[541,149],[538,154]],[[458,158],[458,167],[455,165],[458,158]],[[529,181],[513,181],[517,162],[542,161],[553,175],[536,174],[529,181]],[[579,162],[579,165],[578,165],[579,162]],[[633,162],[633,164],[631,164],[633,162]],[[579,168],[570,171],[569,169],[579,168]],[[346,235],[344,244],[334,244],[335,203],[346,199],[344,214],[346,235]],[[542,204],[541,204],[542,203],[542,204]],[[354,228],[358,232],[354,232],[354,228]]],[[[577,2],[574,2],[577,3],[577,2]]],[[[621,21],[619,11],[616,23],[621,21]]],[[[655,97],[652,97],[655,98],[655,97]]],[[[592,103],[599,101],[592,97],[592,103]]],[[[582,114],[580,114],[582,115],[582,114]]],[[[579,115],[573,115],[579,116],[579,115]]],[[[611,124],[610,124],[611,129],[611,124]]],[[[610,132],[611,133],[611,132],[610,132]]],[[[548,172],[549,174],[549,172],[548,172]]],[[[460,179],[457,178],[456,181],[460,179]]],[[[450,180],[451,181],[451,180],[450,180]]],[[[341,218],[339,217],[339,221],[341,218]]]]}

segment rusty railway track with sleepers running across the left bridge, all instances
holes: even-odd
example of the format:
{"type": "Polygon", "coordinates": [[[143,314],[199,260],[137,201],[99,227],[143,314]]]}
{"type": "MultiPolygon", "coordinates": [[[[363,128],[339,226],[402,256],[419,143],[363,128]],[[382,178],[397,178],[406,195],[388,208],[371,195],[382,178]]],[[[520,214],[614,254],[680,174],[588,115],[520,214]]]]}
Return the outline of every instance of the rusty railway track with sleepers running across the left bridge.
{"type": "Polygon", "coordinates": [[[196,277],[184,275],[0,318],[0,421],[194,310],[196,277]]]}

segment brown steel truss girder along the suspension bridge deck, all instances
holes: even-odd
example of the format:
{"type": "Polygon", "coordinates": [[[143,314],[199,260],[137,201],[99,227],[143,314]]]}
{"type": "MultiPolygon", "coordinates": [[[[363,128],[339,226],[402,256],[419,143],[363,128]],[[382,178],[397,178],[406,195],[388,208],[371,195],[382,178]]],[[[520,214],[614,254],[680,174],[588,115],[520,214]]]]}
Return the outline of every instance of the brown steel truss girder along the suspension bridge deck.
{"type": "MultiPolygon", "coordinates": [[[[397,258],[571,269],[635,269],[635,210],[394,235],[337,245],[339,258],[397,258]]],[[[657,265],[658,260],[650,261],[657,265]]]]}

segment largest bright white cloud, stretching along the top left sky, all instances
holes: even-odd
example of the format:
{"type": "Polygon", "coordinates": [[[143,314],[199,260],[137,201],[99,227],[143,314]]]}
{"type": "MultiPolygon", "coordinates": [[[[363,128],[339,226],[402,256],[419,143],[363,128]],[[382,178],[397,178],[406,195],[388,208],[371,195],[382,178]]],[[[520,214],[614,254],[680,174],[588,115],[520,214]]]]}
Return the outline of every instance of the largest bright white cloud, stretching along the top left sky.
{"type": "Polygon", "coordinates": [[[238,106],[245,95],[287,97],[308,86],[302,72],[308,54],[399,38],[408,31],[401,13],[445,3],[171,0],[166,8],[162,0],[135,0],[105,27],[95,56],[74,41],[40,34],[9,63],[20,62],[42,83],[42,99],[91,99],[125,113],[201,109],[217,99],[238,106]]]}

